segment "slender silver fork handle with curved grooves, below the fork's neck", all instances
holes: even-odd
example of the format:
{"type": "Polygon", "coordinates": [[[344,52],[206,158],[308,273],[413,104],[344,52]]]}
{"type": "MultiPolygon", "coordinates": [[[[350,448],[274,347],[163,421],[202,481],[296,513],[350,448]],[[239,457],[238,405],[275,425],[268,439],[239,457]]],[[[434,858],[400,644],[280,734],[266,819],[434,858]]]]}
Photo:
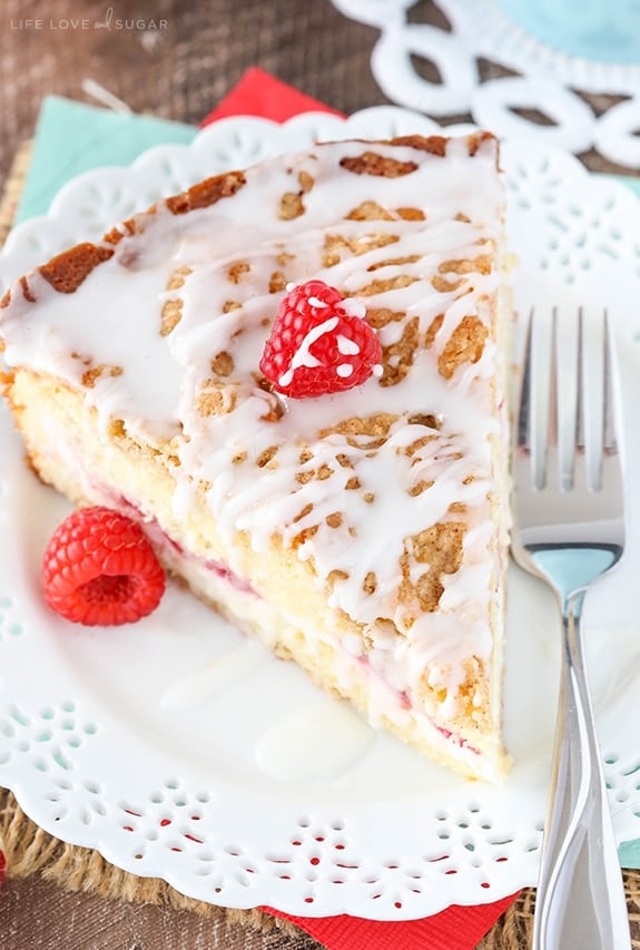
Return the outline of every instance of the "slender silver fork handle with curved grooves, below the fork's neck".
{"type": "Polygon", "coordinates": [[[584,589],[561,595],[562,659],[533,950],[629,950],[622,873],[584,672],[584,589]]]}

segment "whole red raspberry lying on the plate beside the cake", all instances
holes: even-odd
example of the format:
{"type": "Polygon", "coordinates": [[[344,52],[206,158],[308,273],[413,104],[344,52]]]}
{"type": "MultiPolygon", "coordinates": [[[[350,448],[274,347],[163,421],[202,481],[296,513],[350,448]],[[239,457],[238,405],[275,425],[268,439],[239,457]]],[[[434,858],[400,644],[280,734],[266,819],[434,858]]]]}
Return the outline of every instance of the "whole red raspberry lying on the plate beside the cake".
{"type": "Polygon", "coordinates": [[[165,592],[165,571],[145,532],[111,508],[82,508],[58,526],[42,578],[49,607],[86,626],[131,624],[165,592]]]}

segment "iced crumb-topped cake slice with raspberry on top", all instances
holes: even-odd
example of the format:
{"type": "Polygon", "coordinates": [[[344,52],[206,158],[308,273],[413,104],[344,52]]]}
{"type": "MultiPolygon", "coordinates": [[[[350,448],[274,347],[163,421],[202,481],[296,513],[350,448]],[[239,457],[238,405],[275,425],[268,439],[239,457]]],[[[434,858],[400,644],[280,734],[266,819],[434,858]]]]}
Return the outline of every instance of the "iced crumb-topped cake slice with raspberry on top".
{"type": "Polygon", "coordinates": [[[508,768],[496,159],[489,134],[318,145],[159,203],[0,310],[46,482],[141,520],[196,595],[490,780],[508,768]]]}

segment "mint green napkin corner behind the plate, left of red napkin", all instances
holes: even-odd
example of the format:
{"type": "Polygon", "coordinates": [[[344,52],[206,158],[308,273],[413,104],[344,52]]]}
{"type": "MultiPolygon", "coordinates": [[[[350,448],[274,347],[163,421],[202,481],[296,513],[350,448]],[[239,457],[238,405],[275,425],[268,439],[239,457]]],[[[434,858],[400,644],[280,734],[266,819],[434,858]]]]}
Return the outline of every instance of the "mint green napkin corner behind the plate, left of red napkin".
{"type": "Polygon", "coordinates": [[[130,165],[154,145],[189,143],[196,133],[181,123],[48,96],[38,117],[16,222],[46,214],[62,185],[81,172],[130,165]]]}

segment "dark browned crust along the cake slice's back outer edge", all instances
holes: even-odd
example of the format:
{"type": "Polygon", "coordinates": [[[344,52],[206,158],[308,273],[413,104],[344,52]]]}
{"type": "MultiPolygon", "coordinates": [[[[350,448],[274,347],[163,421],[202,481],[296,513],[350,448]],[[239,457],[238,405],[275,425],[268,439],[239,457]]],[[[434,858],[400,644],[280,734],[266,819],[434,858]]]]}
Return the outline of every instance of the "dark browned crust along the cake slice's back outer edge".
{"type": "MultiPolygon", "coordinates": [[[[489,131],[477,131],[467,135],[466,145],[470,156],[476,155],[485,141],[496,141],[495,136],[489,131]]],[[[358,141],[358,139],[355,139],[358,141]]],[[[366,140],[360,139],[363,145],[371,146],[361,156],[342,160],[341,165],[346,170],[356,175],[373,175],[377,177],[396,177],[397,175],[408,174],[417,165],[413,163],[398,163],[395,159],[376,155],[373,149],[376,145],[384,146],[408,146],[420,151],[427,151],[431,155],[442,158],[446,151],[446,144],[451,140],[450,136],[433,135],[407,135],[397,136],[391,139],[366,140]]],[[[498,166],[498,153],[496,153],[498,166]]],[[[221,175],[216,175],[205,178],[196,185],[193,185],[185,192],[181,192],[171,197],[164,198],[160,202],[151,205],[147,210],[127,218],[121,224],[111,228],[99,244],[91,242],[82,242],[70,247],[67,251],[57,254],[46,264],[31,271],[31,274],[39,273],[58,293],[71,294],[75,293],[89,274],[101,263],[114,256],[115,247],[124,237],[139,234],[144,231],[144,221],[149,216],[155,216],[159,209],[166,208],[174,215],[188,214],[198,208],[206,208],[216,204],[223,198],[232,197],[246,184],[244,172],[226,172],[221,175]]],[[[14,297],[21,297],[28,303],[35,303],[36,297],[29,286],[29,276],[27,274],[20,277],[0,300],[0,308],[6,308],[10,305],[14,297]]],[[[0,352],[4,349],[3,341],[0,337],[0,352]]]]}

